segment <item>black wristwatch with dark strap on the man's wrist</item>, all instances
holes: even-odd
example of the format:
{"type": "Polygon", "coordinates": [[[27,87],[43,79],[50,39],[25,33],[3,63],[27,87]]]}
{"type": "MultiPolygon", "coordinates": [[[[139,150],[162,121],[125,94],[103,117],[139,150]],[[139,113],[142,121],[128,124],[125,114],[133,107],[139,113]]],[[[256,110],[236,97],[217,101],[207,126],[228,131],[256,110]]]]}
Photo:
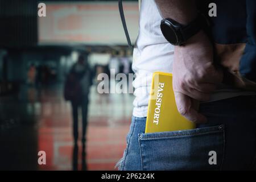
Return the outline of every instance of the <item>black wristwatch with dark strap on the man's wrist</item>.
{"type": "Polygon", "coordinates": [[[163,36],[174,46],[182,46],[189,38],[196,35],[200,30],[208,29],[209,22],[203,15],[198,15],[195,20],[187,26],[176,22],[173,19],[166,18],[160,25],[163,36]]]}

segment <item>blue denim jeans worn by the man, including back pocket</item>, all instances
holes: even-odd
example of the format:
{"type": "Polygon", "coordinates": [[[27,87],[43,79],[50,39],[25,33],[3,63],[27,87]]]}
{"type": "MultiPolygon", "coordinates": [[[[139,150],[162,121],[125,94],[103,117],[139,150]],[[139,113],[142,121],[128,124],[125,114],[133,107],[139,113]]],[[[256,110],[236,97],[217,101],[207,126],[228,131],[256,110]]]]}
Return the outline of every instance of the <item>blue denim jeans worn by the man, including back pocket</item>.
{"type": "Polygon", "coordinates": [[[255,169],[256,96],[200,105],[208,123],[196,129],[144,134],[133,117],[119,170],[255,169]]]}

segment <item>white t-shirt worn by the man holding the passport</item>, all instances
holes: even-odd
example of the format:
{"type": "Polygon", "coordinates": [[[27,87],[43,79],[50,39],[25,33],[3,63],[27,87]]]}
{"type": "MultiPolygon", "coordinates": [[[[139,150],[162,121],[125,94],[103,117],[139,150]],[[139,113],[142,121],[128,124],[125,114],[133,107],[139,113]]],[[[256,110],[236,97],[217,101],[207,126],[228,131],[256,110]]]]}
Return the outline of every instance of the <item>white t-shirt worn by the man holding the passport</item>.
{"type": "MultiPolygon", "coordinates": [[[[139,14],[139,34],[133,52],[133,71],[136,78],[133,102],[135,117],[147,116],[152,73],[172,72],[174,46],[167,42],[160,30],[162,16],[154,0],[142,0],[139,14]]],[[[222,87],[212,94],[210,101],[255,94],[222,87]]]]}

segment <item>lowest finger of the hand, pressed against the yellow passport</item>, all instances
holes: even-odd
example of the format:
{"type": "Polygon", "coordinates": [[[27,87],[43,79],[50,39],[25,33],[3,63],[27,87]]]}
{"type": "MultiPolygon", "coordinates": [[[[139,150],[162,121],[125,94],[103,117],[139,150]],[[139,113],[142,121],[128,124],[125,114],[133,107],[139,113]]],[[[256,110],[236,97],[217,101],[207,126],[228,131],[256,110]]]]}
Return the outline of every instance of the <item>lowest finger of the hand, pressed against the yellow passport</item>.
{"type": "Polygon", "coordinates": [[[189,98],[183,93],[175,92],[174,94],[175,94],[177,110],[181,115],[183,115],[189,121],[192,121],[195,123],[207,122],[207,118],[204,115],[198,113],[195,107],[193,107],[195,106],[195,101],[192,101],[191,98],[189,98]]]}

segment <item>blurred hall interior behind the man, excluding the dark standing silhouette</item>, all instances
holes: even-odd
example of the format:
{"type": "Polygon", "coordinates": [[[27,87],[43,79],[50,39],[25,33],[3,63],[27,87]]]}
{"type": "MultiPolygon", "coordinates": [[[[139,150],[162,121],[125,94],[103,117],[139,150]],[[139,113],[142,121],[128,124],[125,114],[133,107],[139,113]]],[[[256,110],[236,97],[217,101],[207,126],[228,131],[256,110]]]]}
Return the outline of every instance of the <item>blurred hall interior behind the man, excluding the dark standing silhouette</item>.
{"type": "MultiPolygon", "coordinates": [[[[123,7],[134,43],[138,1],[123,7]]],[[[118,1],[0,0],[0,22],[0,169],[117,170],[134,96],[99,93],[97,77],[105,73],[104,81],[115,87],[117,73],[133,73],[118,1]],[[46,16],[39,16],[41,2],[46,16]],[[81,113],[76,145],[71,102],[64,99],[65,80],[79,56],[92,71],[85,147],[81,113]],[[39,163],[39,151],[46,164],[39,163]]]]}

